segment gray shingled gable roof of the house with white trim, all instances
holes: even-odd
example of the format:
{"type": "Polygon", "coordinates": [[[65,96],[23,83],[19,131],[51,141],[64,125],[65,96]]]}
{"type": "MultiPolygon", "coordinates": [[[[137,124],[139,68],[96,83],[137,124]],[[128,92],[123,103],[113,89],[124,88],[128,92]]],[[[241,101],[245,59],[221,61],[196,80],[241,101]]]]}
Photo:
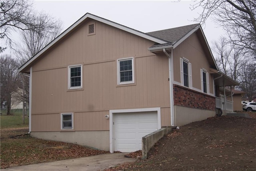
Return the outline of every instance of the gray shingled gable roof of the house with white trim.
{"type": "Polygon", "coordinates": [[[207,40],[204,36],[204,33],[202,31],[202,28],[200,24],[192,24],[188,26],[181,26],[177,28],[171,28],[166,30],[160,30],[156,32],[149,32],[149,33],[143,33],[138,30],[134,30],[132,28],[123,26],[121,24],[118,24],[116,22],[112,22],[110,20],[95,16],[90,13],[86,13],[84,16],[82,16],[79,20],[77,20],[74,24],[72,24],[69,28],[67,28],[62,34],[60,34],[57,38],[52,40],[47,46],[45,46],[40,52],[38,52],[35,56],[30,58],[25,64],[23,64],[18,72],[27,72],[29,73],[29,68],[40,59],[44,54],[48,52],[48,50],[52,49],[54,45],[56,45],[58,42],[62,41],[66,36],[71,34],[80,24],[84,23],[85,20],[88,20],[88,18],[96,20],[98,22],[102,22],[104,24],[108,24],[110,26],[113,26],[115,28],[124,30],[126,32],[129,32],[131,34],[140,36],[142,38],[151,40],[152,42],[155,42],[153,46],[148,48],[150,52],[153,52],[154,49],[160,50],[163,48],[169,48],[173,49],[176,46],[178,46],[181,42],[183,42],[186,38],[188,38],[191,34],[196,32],[197,30],[201,31],[200,37],[204,39],[206,44],[204,44],[204,47],[208,49],[207,58],[210,61],[210,64],[213,68],[218,69],[216,62],[213,58],[212,52],[210,50],[210,47],[207,43],[207,40]]]}

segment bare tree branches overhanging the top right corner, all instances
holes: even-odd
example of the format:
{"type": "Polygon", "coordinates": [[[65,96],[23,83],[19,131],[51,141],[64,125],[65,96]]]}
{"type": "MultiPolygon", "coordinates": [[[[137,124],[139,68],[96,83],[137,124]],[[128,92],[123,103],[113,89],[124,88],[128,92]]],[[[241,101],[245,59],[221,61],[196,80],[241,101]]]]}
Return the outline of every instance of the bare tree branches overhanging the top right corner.
{"type": "Polygon", "coordinates": [[[233,44],[256,53],[255,0],[200,0],[192,9],[203,8],[195,21],[204,24],[208,17],[228,33],[233,44]]]}

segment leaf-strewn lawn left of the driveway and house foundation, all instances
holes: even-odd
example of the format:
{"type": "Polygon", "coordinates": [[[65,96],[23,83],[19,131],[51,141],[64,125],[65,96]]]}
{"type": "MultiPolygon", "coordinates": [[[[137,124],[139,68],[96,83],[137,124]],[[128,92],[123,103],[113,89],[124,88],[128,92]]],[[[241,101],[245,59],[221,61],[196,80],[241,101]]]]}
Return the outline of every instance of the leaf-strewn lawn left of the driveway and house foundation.
{"type": "Polygon", "coordinates": [[[23,124],[22,112],[12,111],[13,115],[6,115],[4,111],[1,113],[1,170],[7,167],[109,153],[71,143],[33,138],[28,134],[28,116],[25,116],[23,124]]]}

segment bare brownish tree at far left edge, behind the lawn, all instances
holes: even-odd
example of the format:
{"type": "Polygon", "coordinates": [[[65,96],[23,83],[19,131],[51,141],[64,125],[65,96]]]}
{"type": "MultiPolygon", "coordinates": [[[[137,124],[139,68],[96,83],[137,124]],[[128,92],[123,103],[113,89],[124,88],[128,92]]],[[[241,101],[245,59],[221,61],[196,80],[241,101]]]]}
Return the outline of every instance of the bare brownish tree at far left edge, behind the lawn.
{"type": "Polygon", "coordinates": [[[0,57],[1,71],[1,104],[5,102],[7,105],[7,115],[10,115],[11,109],[11,94],[20,87],[20,76],[18,73],[18,61],[11,58],[9,55],[0,57]]]}

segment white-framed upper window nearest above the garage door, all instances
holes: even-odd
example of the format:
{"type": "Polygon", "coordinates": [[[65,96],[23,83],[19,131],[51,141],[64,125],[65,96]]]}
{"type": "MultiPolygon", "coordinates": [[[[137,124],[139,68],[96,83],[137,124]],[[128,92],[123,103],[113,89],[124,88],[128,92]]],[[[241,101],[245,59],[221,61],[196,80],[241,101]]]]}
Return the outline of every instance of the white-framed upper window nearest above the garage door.
{"type": "Polygon", "coordinates": [[[133,58],[117,60],[117,84],[134,83],[134,61],[133,58]]]}

